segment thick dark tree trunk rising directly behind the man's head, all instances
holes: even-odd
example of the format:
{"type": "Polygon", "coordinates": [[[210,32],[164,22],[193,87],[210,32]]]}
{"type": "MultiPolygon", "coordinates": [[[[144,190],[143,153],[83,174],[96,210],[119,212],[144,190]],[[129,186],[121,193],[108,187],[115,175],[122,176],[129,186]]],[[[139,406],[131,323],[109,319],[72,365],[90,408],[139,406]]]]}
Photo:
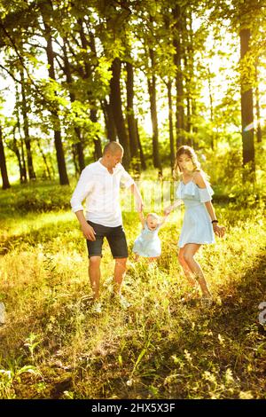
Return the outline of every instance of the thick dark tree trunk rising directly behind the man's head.
{"type": "Polygon", "coordinates": [[[119,58],[113,59],[112,63],[112,78],[110,81],[110,106],[113,112],[113,120],[117,131],[117,136],[124,148],[123,165],[126,169],[129,169],[130,164],[130,149],[129,149],[129,137],[126,130],[125,121],[122,112],[121,102],[121,60],[119,58]]]}

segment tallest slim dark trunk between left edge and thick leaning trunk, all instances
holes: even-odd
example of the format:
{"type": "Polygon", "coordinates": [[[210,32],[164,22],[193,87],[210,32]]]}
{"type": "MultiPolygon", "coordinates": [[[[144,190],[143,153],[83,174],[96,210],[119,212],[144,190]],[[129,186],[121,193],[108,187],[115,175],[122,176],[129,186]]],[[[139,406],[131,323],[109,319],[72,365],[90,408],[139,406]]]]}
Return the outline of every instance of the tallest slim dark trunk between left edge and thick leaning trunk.
{"type": "Polygon", "coordinates": [[[23,131],[24,131],[24,141],[27,151],[27,172],[29,179],[36,179],[35,169],[33,166],[33,158],[30,146],[30,137],[28,130],[28,117],[27,117],[27,98],[25,91],[25,78],[24,78],[24,69],[20,70],[20,80],[21,80],[21,98],[22,98],[22,117],[23,117],[23,131]]]}

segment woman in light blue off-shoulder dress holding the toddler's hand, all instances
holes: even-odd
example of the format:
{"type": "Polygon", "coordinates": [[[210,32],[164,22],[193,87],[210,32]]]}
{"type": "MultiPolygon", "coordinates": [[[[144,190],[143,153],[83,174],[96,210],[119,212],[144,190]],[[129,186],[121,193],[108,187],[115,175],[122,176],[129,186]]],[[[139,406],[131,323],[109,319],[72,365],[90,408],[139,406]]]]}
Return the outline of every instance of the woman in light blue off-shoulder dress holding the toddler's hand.
{"type": "Polygon", "coordinates": [[[185,213],[178,240],[178,260],[194,290],[191,295],[185,297],[185,300],[192,298],[197,290],[198,281],[203,299],[211,303],[212,297],[206,279],[194,256],[202,244],[215,243],[215,234],[223,237],[225,228],[218,225],[211,202],[214,192],[207,181],[206,174],[200,169],[200,162],[192,147],[181,146],[177,150],[175,169],[181,178],[176,191],[178,200],[173,206],[165,209],[165,214],[169,214],[180,204],[180,201],[184,201],[185,213]]]}

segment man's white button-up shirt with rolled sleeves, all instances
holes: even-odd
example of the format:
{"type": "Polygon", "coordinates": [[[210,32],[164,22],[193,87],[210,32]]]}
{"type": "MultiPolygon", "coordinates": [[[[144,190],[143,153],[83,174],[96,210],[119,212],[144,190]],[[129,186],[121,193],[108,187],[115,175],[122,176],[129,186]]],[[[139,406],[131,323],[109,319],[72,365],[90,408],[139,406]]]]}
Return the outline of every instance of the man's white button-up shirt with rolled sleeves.
{"type": "Polygon", "coordinates": [[[132,184],[133,178],[121,163],[110,174],[99,159],[82,170],[70,201],[72,210],[74,213],[83,210],[82,201],[86,199],[86,220],[108,227],[119,226],[122,224],[120,186],[132,184]]]}

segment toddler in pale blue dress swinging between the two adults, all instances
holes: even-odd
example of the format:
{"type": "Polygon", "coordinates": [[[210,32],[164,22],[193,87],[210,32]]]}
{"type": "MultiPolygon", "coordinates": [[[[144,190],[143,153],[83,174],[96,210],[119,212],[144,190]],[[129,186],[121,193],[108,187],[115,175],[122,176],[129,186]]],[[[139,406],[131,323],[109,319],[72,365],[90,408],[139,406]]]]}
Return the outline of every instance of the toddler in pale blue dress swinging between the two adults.
{"type": "Polygon", "coordinates": [[[142,231],[137,236],[132,249],[136,261],[139,256],[143,256],[148,258],[149,262],[153,262],[160,256],[161,246],[158,232],[167,216],[164,216],[160,221],[160,216],[155,213],[149,213],[146,218],[143,212],[139,213],[142,231]]]}

